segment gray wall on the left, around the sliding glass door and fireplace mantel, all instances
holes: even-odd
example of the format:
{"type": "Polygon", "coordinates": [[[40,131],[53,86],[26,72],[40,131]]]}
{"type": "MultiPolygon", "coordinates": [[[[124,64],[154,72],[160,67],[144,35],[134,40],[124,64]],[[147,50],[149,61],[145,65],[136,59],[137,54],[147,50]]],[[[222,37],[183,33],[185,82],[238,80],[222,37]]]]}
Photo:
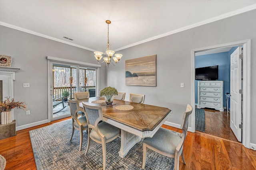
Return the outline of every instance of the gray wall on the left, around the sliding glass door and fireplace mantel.
{"type": "MultiPolygon", "coordinates": [[[[24,101],[30,115],[15,109],[16,126],[48,119],[46,56],[98,64],[94,53],[85,49],[52,41],[43,37],[0,25],[0,54],[12,57],[12,67],[18,67],[14,81],[14,99],[24,101]],[[30,83],[30,88],[23,88],[30,83]]],[[[100,87],[106,86],[106,67],[100,68],[100,87]]]]}

